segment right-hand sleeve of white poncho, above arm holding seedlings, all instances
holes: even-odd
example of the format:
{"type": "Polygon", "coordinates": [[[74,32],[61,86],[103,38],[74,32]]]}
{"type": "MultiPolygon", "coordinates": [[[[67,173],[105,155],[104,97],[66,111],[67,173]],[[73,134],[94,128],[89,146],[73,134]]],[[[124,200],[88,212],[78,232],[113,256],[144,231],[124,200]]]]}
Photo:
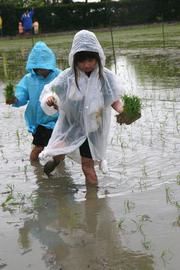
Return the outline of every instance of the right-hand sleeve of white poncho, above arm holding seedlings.
{"type": "Polygon", "coordinates": [[[104,104],[105,106],[111,105],[116,100],[120,99],[124,92],[124,85],[113,72],[104,68],[104,104]]]}

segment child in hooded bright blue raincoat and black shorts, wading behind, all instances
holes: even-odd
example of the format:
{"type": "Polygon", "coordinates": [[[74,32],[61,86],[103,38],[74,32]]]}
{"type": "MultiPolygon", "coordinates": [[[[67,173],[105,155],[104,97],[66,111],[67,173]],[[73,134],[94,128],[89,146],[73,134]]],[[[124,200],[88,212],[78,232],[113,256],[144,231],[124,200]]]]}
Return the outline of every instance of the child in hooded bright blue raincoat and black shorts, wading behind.
{"type": "Polygon", "coordinates": [[[44,42],[37,42],[29,54],[26,74],[16,86],[13,100],[6,100],[13,107],[27,104],[25,120],[28,131],[32,133],[34,148],[30,160],[38,160],[39,153],[48,144],[49,138],[58,118],[58,113],[48,116],[40,106],[39,97],[45,86],[50,83],[61,71],[56,68],[54,53],[44,42]]]}

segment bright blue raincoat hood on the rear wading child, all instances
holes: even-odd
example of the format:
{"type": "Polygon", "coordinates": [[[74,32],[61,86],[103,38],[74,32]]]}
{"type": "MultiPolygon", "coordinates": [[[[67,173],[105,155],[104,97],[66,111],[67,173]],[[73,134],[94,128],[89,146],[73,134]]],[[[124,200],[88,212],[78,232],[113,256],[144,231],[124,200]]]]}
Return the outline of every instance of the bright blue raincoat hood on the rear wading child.
{"type": "Polygon", "coordinates": [[[37,42],[29,54],[26,70],[32,72],[34,68],[56,69],[56,58],[53,51],[42,42],[37,42]]]}

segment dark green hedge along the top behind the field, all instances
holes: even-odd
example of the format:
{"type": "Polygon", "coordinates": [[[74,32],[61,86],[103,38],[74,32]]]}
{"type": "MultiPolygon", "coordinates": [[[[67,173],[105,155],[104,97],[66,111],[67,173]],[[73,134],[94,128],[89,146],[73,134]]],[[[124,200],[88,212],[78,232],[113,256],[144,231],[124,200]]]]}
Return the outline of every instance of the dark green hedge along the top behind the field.
{"type": "MultiPolygon", "coordinates": [[[[35,9],[42,32],[56,32],[112,25],[132,25],[180,20],[179,0],[122,0],[120,2],[70,3],[35,9]]],[[[0,5],[5,34],[16,34],[22,9],[0,5]]]]}

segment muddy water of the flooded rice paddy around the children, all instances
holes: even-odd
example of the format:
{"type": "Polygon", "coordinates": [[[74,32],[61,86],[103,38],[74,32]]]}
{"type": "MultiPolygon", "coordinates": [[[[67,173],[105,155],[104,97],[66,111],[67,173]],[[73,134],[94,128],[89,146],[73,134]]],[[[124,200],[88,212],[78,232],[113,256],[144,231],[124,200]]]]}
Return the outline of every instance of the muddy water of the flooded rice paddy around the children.
{"type": "MultiPolygon", "coordinates": [[[[22,76],[27,53],[3,56],[11,79],[22,76]]],[[[131,126],[112,116],[98,189],[71,160],[50,179],[30,164],[24,108],[4,104],[1,65],[0,269],[179,269],[179,64],[175,49],[117,51],[117,73],[143,110],[131,126]]]]}

